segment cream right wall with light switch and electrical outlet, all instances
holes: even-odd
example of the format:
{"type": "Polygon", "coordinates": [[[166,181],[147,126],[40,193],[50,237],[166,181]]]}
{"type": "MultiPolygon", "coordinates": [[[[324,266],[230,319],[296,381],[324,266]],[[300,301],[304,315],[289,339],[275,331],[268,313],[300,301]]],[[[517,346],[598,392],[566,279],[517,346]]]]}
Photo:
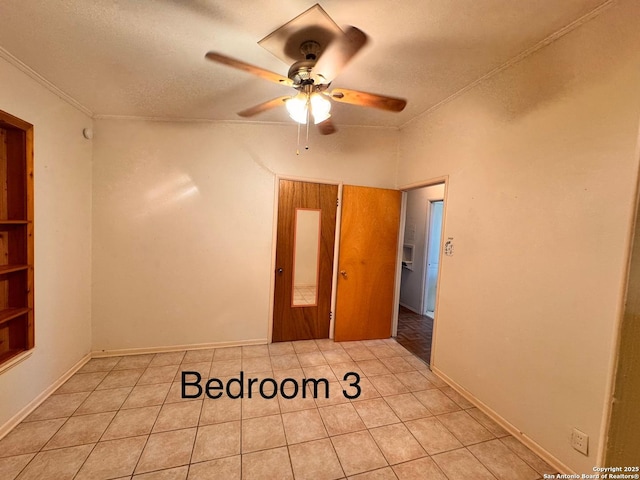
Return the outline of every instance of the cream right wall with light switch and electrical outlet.
{"type": "Polygon", "coordinates": [[[638,18],[614,2],[400,140],[400,185],[450,176],[435,367],[589,473],[638,174],[638,18]]]}

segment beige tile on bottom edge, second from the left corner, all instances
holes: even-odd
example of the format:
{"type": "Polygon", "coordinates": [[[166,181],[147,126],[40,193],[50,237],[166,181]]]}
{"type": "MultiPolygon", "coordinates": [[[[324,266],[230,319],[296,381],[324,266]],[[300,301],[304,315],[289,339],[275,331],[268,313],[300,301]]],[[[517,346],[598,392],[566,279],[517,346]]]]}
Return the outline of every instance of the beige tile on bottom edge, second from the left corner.
{"type": "Polygon", "coordinates": [[[19,480],[71,480],[89,456],[93,445],[38,453],[18,476],[19,480]]]}

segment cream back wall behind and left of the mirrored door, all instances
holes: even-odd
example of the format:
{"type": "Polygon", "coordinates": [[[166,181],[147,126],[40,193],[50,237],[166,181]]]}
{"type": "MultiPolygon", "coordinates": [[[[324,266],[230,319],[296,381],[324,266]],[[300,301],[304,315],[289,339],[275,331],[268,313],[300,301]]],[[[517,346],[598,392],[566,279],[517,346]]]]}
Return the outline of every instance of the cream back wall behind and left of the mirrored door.
{"type": "Polygon", "coordinates": [[[96,121],[93,349],[266,340],[276,174],[393,187],[397,138],[96,121]]]}

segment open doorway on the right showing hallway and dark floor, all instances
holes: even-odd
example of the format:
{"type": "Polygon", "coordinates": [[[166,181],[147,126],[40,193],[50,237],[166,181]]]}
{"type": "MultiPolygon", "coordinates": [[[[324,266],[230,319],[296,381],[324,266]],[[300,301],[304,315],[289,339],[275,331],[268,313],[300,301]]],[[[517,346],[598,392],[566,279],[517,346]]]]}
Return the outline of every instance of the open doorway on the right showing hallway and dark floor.
{"type": "Polygon", "coordinates": [[[397,341],[431,363],[445,183],[406,192],[397,341]]]}

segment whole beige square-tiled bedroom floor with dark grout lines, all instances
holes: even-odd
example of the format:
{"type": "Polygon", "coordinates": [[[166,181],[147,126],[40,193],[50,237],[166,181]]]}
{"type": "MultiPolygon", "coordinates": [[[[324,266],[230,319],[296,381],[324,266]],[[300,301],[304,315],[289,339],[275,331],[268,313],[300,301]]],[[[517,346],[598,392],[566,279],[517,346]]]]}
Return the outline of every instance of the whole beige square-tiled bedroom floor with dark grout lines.
{"type": "Polygon", "coordinates": [[[552,472],[393,339],[93,359],[0,440],[4,480],[534,480],[552,472]],[[287,381],[273,399],[257,384],[252,398],[181,398],[181,371],[226,383],[241,370],[245,384],[248,376],[326,378],[330,396],[320,388],[314,400],[311,385],[307,398],[296,396],[287,381]],[[342,393],[355,393],[346,372],[362,376],[357,399],[342,393]]]}

